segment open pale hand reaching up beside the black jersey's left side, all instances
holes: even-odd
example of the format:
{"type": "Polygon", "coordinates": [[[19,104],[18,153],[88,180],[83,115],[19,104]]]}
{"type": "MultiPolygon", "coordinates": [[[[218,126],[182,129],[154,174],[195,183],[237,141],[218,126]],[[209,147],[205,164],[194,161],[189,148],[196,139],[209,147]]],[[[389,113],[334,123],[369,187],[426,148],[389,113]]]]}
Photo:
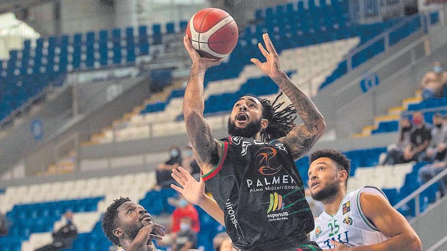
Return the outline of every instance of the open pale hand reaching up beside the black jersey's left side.
{"type": "Polygon", "coordinates": [[[179,166],[177,169],[172,169],[171,176],[174,178],[180,187],[171,184],[171,188],[181,193],[189,203],[198,205],[199,202],[205,198],[205,183],[200,178],[197,182],[196,179],[189,174],[188,171],[179,166]]]}

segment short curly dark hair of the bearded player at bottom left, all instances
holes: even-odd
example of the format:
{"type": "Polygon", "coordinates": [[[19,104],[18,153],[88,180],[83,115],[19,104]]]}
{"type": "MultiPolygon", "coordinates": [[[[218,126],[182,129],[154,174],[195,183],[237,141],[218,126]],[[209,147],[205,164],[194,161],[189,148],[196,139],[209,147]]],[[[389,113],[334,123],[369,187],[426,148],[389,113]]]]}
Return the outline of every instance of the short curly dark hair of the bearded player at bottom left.
{"type": "Polygon", "coordinates": [[[126,198],[120,197],[119,199],[113,200],[113,203],[107,207],[107,210],[104,213],[104,217],[101,222],[103,231],[106,234],[107,238],[109,238],[109,240],[115,243],[116,245],[119,245],[119,239],[113,234],[113,230],[116,229],[119,224],[118,207],[122,203],[127,201],[131,201],[131,199],[129,199],[129,197],[126,198]]]}

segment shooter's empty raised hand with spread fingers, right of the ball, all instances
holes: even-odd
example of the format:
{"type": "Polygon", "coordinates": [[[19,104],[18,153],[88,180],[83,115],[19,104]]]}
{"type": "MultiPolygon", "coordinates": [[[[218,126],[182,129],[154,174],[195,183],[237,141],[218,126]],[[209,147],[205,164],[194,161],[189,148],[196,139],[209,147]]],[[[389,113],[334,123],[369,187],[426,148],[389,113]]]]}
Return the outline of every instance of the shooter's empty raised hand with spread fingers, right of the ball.
{"type": "Polygon", "coordinates": [[[259,69],[270,78],[275,77],[277,74],[281,73],[281,68],[279,64],[279,56],[276,53],[275,47],[273,47],[272,41],[269,38],[269,34],[264,33],[262,35],[264,39],[264,43],[266,45],[266,49],[262,46],[261,43],[258,43],[258,47],[261,50],[261,53],[267,59],[267,62],[262,63],[256,58],[250,59],[251,62],[258,65],[259,69]]]}

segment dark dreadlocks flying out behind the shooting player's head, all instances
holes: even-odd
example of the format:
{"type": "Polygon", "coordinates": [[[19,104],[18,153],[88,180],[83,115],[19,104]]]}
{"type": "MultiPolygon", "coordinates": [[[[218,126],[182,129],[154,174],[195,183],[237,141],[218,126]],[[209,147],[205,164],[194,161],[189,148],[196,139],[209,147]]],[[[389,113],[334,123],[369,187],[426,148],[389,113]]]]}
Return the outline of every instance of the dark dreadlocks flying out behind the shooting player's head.
{"type": "Polygon", "coordinates": [[[294,121],[297,118],[295,106],[289,104],[280,109],[285,102],[277,103],[282,94],[282,92],[279,93],[273,102],[265,98],[249,95],[256,97],[261,102],[263,119],[269,121],[267,128],[261,131],[261,140],[263,142],[284,137],[295,127],[294,121]]]}

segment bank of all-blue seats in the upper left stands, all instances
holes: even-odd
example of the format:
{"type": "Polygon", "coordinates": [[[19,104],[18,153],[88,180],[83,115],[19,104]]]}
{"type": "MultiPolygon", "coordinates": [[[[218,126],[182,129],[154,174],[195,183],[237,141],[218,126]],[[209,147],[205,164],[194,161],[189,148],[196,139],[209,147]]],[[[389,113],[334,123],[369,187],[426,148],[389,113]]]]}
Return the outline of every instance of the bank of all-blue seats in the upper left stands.
{"type": "MultiPolygon", "coordinates": [[[[185,27],[185,21],[167,23],[164,33],[180,32],[185,27]]],[[[150,45],[161,43],[159,24],[153,25],[150,32],[147,26],[123,31],[100,30],[41,38],[36,47],[31,47],[31,41],[27,40],[22,50],[10,51],[10,58],[0,61],[0,121],[47,86],[62,85],[67,73],[134,65],[137,57],[149,55],[150,45]]]]}

